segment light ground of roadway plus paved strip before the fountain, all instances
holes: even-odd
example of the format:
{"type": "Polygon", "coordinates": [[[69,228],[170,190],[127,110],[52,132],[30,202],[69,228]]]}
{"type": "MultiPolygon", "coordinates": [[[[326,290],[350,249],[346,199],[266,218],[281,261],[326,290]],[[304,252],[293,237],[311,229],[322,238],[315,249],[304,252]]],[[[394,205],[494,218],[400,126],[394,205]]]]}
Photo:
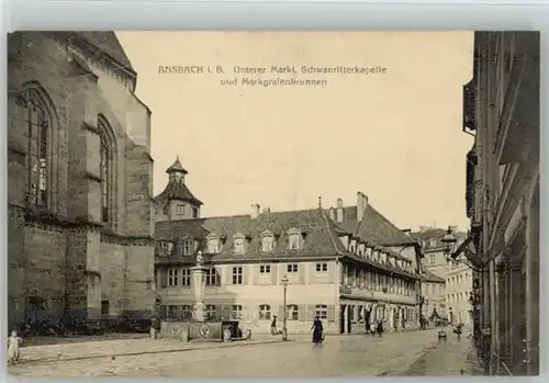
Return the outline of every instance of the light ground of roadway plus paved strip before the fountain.
{"type": "MultiPolygon", "coordinates": [[[[448,375],[450,372],[460,371],[462,364],[461,359],[456,358],[455,343],[450,338],[446,347],[439,343],[437,329],[393,333],[383,337],[328,335],[322,346],[313,346],[310,335],[296,337],[289,342],[276,339],[277,342],[268,343],[268,339],[258,336],[250,342],[239,341],[234,345],[176,345],[176,341],[171,340],[132,339],[125,340],[125,346],[124,341],[117,340],[40,346],[40,350],[38,347],[34,350],[29,347],[22,349],[23,360],[34,358],[34,361],[10,367],[9,372],[11,375],[27,378],[402,376],[411,371],[419,373],[422,368],[417,368],[417,361],[429,358],[437,347],[442,353],[451,351],[447,359],[442,358],[448,363],[441,367],[435,357],[425,359],[426,364],[433,365],[433,371],[425,369],[424,374],[437,375],[439,372],[444,373],[446,368],[448,371],[444,374],[448,375]],[[54,349],[55,347],[57,349],[54,349]],[[69,347],[78,349],[68,349],[69,347]],[[132,353],[121,353],[124,350],[132,353]],[[56,356],[55,351],[65,356],[65,359],[56,356]],[[110,357],[104,356],[107,351],[111,353],[110,357]],[[71,359],[66,358],[71,352],[71,359]],[[38,357],[44,359],[38,360],[38,357]],[[55,358],[57,360],[54,360],[55,358]],[[455,368],[450,368],[451,360],[457,363],[455,368]]],[[[460,347],[468,340],[461,341],[460,347]]]]}

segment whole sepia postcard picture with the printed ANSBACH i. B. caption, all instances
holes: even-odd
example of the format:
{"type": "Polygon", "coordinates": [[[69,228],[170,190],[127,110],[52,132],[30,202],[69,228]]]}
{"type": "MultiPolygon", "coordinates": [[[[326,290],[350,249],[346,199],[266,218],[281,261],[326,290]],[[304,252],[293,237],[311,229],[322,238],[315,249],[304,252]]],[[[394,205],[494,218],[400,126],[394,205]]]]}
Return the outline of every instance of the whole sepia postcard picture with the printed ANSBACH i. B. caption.
{"type": "Polygon", "coordinates": [[[539,373],[539,33],[8,43],[11,374],[539,373]]]}

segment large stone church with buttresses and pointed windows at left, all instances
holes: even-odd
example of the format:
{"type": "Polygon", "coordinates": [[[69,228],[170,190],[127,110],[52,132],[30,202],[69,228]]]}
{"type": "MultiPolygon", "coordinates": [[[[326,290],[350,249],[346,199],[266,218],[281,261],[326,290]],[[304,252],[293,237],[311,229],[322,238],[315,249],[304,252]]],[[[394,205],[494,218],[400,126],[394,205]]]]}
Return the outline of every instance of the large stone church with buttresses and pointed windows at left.
{"type": "Polygon", "coordinates": [[[149,318],[150,111],[113,32],[8,38],[9,326],[149,318]]]}

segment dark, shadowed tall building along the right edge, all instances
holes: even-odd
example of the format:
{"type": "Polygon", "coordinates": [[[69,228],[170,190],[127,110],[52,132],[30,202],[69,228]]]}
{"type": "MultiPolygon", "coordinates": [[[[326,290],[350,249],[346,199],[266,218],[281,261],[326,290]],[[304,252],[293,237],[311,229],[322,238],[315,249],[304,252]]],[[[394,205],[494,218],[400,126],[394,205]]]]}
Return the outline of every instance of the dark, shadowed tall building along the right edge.
{"type": "Polygon", "coordinates": [[[539,372],[539,56],[538,32],[477,32],[463,88],[471,236],[457,255],[478,269],[490,374],[539,372]]]}

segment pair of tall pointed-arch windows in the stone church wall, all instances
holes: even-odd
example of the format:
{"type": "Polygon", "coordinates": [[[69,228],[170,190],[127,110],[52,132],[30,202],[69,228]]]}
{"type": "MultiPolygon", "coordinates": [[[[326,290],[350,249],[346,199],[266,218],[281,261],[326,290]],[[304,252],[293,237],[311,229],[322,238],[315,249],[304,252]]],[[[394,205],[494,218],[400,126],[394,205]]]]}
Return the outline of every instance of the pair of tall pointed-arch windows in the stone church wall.
{"type": "MultiPolygon", "coordinates": [[[[51,190],[55,187],[55,176],[52,174],[52,137],[55,134],[53,127],[55,106],[49,104],[48,95],[42,88],[26,89],[18,99],[18,129],[26,132],[26,201],[30,207],[47,210],[51,205],[51,190]]],[[[98,129],[100,134],[100,177],[101,183],[101,221],[112,221],[113,185],[116,183],[114,171],[115,140],[109,123],[103,116],[98,116],[98,129]]]]}

